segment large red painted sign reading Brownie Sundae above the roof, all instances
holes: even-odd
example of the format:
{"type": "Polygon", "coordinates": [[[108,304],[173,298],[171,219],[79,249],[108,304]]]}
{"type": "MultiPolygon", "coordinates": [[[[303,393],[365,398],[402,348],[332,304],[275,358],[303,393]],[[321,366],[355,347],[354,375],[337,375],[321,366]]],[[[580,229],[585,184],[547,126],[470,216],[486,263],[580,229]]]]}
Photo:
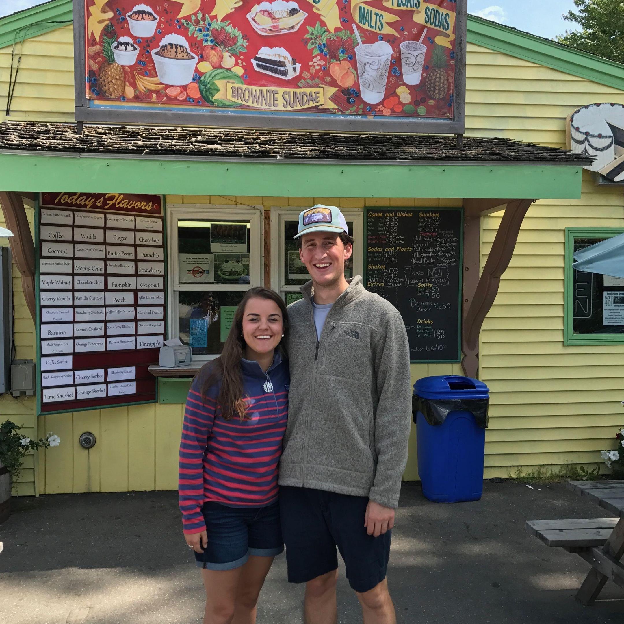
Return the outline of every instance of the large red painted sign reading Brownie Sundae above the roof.
{"type": "Polygon", "coordinates": [[[465,5],[84,0],[76,119],[463,132],[465,5]]]}

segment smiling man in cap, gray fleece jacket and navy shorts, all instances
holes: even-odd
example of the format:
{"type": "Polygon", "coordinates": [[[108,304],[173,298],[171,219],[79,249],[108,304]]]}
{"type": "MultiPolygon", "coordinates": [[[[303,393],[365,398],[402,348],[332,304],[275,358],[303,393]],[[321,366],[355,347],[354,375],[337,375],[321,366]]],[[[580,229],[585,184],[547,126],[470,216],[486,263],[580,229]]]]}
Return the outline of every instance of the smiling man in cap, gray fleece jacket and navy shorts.
{"type": "Polygon", "coordinates": [[[307,583],[306,624],[334,624],[338,547],[364,623],[394,624],[386,568],[411,427],[405,326],[360,276],[344,278],[354,240],[338,208],[301,212],[295,238],[312,280],[288,306],[280,461],[288,580],[307,583]]]}

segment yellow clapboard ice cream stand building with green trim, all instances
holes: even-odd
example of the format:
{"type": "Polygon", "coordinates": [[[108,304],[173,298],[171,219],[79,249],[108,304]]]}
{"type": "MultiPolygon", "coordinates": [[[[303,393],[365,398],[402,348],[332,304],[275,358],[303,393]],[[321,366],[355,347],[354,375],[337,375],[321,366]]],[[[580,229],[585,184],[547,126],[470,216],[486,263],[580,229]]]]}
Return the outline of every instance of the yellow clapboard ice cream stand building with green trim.
{"type": "Polygon", "coordinates": [[[175,489],[190,378],[245,290],[300,296],[314,203],[414,381],[490,387],[487,477],[597,462],[622,424],[624,287],[572,253],[624,230],[623,66],[461,0],[52,0],[0,20],[0,97],[8,358],[34,364],[0,413],[62,441],[17,493],[175,489]],[[593,104],[595,133],[571,122],[593,104]],[[168,338],[190,366],[157,366],[168,338]]]}

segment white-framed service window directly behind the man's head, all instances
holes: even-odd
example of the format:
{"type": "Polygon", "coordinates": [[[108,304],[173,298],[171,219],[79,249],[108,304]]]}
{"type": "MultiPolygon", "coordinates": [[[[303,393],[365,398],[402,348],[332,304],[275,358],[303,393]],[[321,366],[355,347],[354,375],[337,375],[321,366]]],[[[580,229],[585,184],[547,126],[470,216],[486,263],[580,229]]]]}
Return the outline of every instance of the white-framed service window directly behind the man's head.
{"type": "MultiPolygon", "coordinates": [[[[310,281],[310,273],[299,257],[299,243],[293,238],[304,208],[271,208],[271,288],[283,296],[286,305],[301,299],[300,286],[310,281]]],[[[353,255],[344,266],[346,278],[363,275],[363,211],[343,210],[349,234],[355,238],[353,255]]]]}

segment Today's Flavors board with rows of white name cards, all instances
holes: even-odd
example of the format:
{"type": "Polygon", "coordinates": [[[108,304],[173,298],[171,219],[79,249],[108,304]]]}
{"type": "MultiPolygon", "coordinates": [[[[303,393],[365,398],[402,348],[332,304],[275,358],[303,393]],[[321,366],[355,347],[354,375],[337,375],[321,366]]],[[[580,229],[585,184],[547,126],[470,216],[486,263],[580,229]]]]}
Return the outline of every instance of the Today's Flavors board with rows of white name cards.
{"type": "Polygon", "coordinates": [[[38,413],[155,401],[161,198],[41,193],[36,226],[38,413]]]}

